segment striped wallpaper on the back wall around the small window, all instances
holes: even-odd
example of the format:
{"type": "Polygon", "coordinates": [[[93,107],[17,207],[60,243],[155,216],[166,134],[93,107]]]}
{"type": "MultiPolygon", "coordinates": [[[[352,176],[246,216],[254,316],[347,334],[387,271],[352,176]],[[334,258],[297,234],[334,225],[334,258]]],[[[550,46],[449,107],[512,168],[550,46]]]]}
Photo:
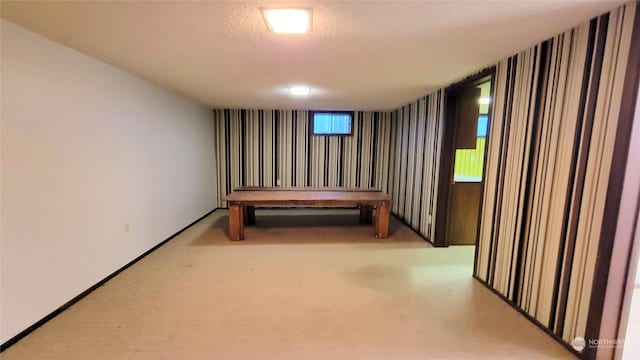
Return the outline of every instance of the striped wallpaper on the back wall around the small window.
{"type": "Polygon", "coordinates": [[[220,199],[239,186],[388,187],[389,113],[354,112],[352,136],[311,135],[306,110],[213,114],[220,199]]]}

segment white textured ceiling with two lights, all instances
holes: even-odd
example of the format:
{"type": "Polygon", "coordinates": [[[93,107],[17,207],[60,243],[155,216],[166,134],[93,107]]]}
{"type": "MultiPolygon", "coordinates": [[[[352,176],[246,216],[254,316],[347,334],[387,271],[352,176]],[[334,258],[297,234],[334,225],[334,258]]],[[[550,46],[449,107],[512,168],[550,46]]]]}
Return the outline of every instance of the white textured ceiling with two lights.
{"type": "Polygon", "coordinates": [[[216,108],[387,110],[620,3],[2,1],[1,15],[216,108]],[[261,6],[313,8],[312,32],[270,33],[261,6]]]}

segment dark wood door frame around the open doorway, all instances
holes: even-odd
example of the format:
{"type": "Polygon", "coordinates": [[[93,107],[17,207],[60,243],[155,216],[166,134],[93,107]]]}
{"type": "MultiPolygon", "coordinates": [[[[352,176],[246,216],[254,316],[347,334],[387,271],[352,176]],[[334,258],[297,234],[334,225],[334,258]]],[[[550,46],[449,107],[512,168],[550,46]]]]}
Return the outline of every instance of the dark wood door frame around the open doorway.
{"type": "MultiPolygon", "coordinates": [[[[449,223],[449,200],[451,196],[451,178],[453,176],[453,168],[454,168],[454,144],[455,144],[455,133],[456,133],[456,121],[455,121],[455,104],[456,104],[456,96],[460,92],[461,89],[464,89],[468,86],[472,86],[475,84],[479,84],[481,82],[486,81],[487,78],[491,79],[491,98],[494,98],[495,93],[495,73],[496,67],[486,68],[474,75],[471,75],[457,83],[454,83],[445,89],[445,121],[443,123],[443,139],[442,139],[442,148],[440,151],[440,174],[438,176],[438,207],[436,209],[436,218],[435,218],[435,234],[433,244],[437,247],[446,247],[449,246],[447,242],[447,225],[449,223]]],[[[486,168],[486,154],[489,148],[489,139],[491,138],[491,108],[493,105],[493,101],[489,103],[489,121],[487,123],[487,142],[485,145],[485,161],[483,165],[483,176],[486,168]]],[[[482,209],[482,198],[484,195],[484,181],[482,183],[482,189],[480,192],[480,209],[482,209]]],[[[478,214],[479,216],[479,214],[478,214]]],[[[480,224],[478,223],[478,229],[480,229],[480,224]]],[[[478,239],[476,236],[476,245],[478,239]]],[[[477,248],[477,246],[476,246],[477,248]]]]}

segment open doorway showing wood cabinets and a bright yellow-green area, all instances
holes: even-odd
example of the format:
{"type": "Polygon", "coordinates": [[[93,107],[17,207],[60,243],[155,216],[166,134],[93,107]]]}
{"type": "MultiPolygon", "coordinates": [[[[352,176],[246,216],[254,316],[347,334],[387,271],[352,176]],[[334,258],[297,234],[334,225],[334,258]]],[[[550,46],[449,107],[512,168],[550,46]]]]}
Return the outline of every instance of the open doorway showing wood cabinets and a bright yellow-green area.
{"type": "Polygon", "coordinates": [[[447,90],[447,125],[441,158],[439,201],[445,204],[436,245],[475,245],[487,139],[491,124],[493,71],[447,90]]]}

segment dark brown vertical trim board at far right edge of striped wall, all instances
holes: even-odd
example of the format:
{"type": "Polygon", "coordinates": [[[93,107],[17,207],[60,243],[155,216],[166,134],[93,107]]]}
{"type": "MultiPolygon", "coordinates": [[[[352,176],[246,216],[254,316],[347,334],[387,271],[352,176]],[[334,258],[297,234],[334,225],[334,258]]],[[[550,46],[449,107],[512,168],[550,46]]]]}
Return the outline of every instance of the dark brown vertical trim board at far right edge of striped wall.
{"type": "MultiPolygon", "coordinates": [[[[633,33],[631,35],[632,45],[629,49],[629,60],[627,62],[625,82],[622,91],[622,105],[620,107],[618,129],[616,131],[615,147],[611,164],[611,175],[607,188],[602,231],[600,233],[601,241],[598,246],[595,278],[591,291],[591,302],[589,304],[589,317],[587,318],[586,330],[587,340],[600,338],[600,326],[602,324],[607,280],[611,267],[613,242],[616,235],[620,200],[629,154],[631,128],[633,126],[636,100],[638,97],[638,83],[640,81],[640,46],[637,45],[640,44],[640,6],[638,6],[638,4],[636,4],[634,16],[633,33]]],[[[622,299],[620,299],[620,305],[622,305],[622,299]]],[[[588,346],[584,350],[583,357],[585,359],[595,359],[597,350],[596,347],[588,346]]]]}

